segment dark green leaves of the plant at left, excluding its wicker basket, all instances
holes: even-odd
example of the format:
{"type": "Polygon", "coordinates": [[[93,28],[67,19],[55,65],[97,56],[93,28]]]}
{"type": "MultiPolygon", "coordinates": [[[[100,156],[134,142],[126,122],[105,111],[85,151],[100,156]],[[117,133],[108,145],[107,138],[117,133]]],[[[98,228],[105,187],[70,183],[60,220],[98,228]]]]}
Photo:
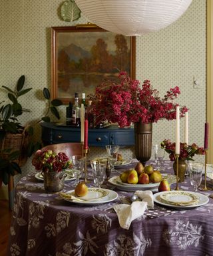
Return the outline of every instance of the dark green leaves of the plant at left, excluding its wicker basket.
{"type": "MultiPolygon", "coordinates": [[[[51,100],[51,95],[49,89],[43,89],[44,99],[47,100],[47,111],[45,116],[39,118],[39,121],[33,125],[27,125],[24,127],[19,123],[18,117],[23,114],[23,112],[30,111],[22,107],[19,103],[19,97],[25,95],[32,88],[23,89],[25,84],[25,75],[19,77],[15,89],[12,90],[7,86],[2,86],[3,89],[7,91],[7,97],[10,103],[4,104],[5,101],[0,102],[0,145],[3,139],[8,133],[17,134],[25,133],[29,135],[29,142],[27,145],[27,157],[31,157],[33,152],[41,148],[41,143],[39,141],[33,141],[33,126],[41,121],[50,122],[51,117],[49,113],[51,112],[57,119],[60,119],[59,111],[57,107],[62,105],[59,99],[51,100]]],[[[18,159],[21,155],[21,151],[13,151],[11,148],[0,148],[0,180],[7,184],[9,180],[9,175],[15,175],[15,173],[21,173],[21,167],[19,166],[18,159]]]]}

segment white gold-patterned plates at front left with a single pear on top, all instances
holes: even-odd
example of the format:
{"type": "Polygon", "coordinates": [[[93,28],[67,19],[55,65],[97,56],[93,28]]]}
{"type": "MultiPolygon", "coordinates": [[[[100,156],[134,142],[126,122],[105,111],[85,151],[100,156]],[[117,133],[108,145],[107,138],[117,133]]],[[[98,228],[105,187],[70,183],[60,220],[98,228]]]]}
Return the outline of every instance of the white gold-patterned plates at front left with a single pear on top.
{"type": "Polygon", "coordinates": [[[80,205],[99,205],[101,203],[109,203],[118,198],[118,194],[115,191],[95,187],[89,187],[85,197],[77,197],[74,189],[66,193],[59,193],[59,195],[66,201],[80,205]]]}

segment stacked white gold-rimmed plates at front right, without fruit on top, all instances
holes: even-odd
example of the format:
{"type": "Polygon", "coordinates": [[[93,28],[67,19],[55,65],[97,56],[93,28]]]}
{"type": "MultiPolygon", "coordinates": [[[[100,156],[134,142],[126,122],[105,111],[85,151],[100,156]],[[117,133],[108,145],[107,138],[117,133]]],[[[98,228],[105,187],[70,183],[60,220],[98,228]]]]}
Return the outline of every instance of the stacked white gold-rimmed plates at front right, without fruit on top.
{"type": "Polygon", "coordinates": [[[190,191],[164,191],[159,192],[153,195],[153,199],[155,203],[160,205],[169,206],[176,209],[190,209],[194,207],[198,207],[201,205],[205,205],[208,203],[208,197],[206,195],[202,195],[201,193],[190,192],[190,191]],[[162,200],[163,195],[168,194],[168,197],[172,202],[162,200]],[[172,195],[174,194],[174,196],[172,195]],[[179,199],[178,199],[179,197],[179,199]],[[192,198],[197,198],[198,201],[196,204],[187,205],[187,202],[192,200],[192,198]],[[176,203],[176,204],[175,204],[176,203]],[[180,203],[180,205],[177,205],[180,203]]]}

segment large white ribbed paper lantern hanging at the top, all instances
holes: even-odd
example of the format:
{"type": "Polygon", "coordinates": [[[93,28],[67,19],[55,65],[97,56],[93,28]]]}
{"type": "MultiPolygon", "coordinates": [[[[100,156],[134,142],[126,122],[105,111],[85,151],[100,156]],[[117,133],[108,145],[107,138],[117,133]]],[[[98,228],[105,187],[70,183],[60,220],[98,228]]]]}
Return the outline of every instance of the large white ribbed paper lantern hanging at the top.
{"type": "Polygon", "coordinates": [[[75,0],[85,16],[108,31],[142,35],[176,21],[192,0],[75,0]]]}

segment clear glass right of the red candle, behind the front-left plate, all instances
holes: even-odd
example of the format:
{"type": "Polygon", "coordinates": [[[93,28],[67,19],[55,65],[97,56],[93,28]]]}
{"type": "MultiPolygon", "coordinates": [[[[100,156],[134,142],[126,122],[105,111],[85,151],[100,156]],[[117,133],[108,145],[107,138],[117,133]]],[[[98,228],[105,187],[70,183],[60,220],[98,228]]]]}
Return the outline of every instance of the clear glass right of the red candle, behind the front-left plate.
{"type": "Polygon", "coordinates": [[[100,161],[91,161],[95,187],[101,188],[101,184],[105,181],[106,165],[106,163],[100,163],[100,161]]]}

